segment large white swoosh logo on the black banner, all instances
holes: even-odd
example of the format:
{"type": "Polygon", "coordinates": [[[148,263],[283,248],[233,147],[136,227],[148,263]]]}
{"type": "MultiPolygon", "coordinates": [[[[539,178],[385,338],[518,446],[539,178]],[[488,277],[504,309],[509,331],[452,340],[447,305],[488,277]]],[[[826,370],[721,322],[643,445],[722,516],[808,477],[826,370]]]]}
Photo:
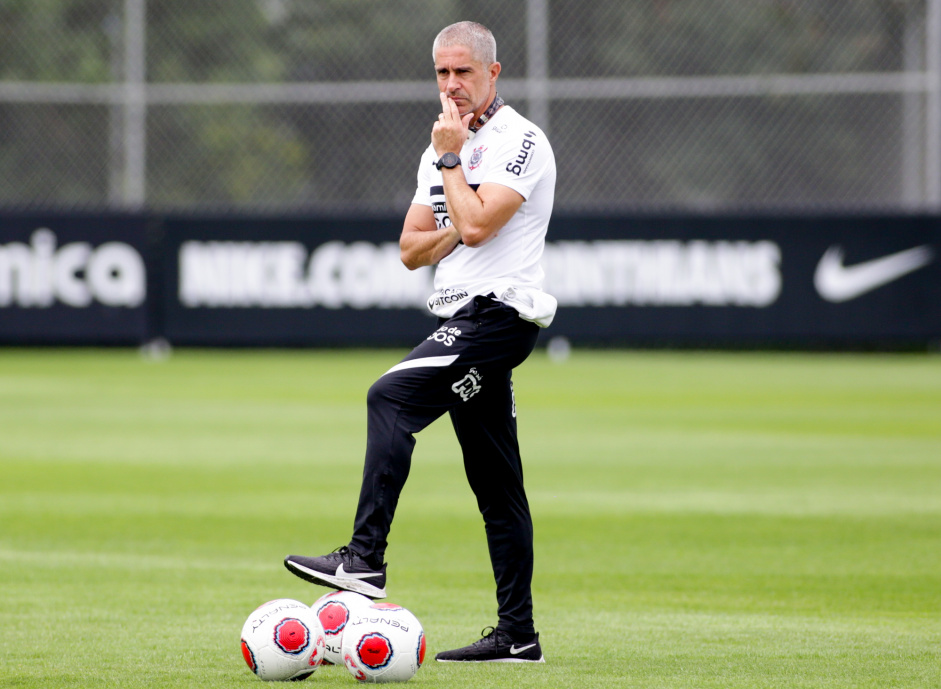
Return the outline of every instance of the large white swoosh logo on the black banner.
{"type": "Polygon", "coordinates": [[[850,301],[924,268],[933,260],[934,252],[925,244],[844,266],[843,248],[831,246],[817,264],[814,286],[817,293],[829,302],[850,301]]]}

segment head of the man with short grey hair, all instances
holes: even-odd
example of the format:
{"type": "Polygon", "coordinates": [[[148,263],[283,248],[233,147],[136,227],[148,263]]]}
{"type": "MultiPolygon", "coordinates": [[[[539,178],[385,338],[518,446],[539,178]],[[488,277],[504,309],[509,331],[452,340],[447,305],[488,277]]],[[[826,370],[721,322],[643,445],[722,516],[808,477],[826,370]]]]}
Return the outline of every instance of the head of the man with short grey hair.
{"type": "Polygon", "coordinates": [[[435,38],[432,54],[438,90],[454,101],[462,116],[473,112],[473,122],[497,92],[500,63],[493,34],[476,22],[451,24],[435,38]]]}

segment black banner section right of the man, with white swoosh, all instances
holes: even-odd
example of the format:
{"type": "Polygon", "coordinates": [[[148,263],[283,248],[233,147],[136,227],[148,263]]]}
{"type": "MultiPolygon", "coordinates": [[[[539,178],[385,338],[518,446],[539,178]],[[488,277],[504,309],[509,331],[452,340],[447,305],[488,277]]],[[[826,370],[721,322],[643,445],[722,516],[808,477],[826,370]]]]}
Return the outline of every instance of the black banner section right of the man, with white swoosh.
{"type": "Polygon", "coordinates": [[[930,217],[560,218],[555,333],[573,341],[841,346],[941,338],[930,217]]]}

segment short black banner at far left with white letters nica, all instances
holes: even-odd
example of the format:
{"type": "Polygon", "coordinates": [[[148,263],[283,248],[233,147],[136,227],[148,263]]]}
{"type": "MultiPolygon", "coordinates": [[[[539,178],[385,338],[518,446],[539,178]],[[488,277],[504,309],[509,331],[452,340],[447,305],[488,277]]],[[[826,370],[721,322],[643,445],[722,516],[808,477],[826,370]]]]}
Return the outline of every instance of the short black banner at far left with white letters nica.
{"type": "Polygon", "coordinates": [[[0,342],[146,339],[146,227],[137,216],[0,214],[0,342]]]}

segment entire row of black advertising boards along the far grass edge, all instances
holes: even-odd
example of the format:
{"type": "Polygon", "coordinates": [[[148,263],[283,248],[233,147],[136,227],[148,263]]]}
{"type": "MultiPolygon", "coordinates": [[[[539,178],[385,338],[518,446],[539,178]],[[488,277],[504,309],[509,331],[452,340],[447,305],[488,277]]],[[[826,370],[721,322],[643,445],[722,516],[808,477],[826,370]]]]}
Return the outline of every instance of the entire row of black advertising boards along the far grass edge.
{"type": "MultiPolygon", "coordinates": [[[[0,215],[0,341],[413,346],[401,218],[0,215]]],[[[941,218],[558,214],[543,341],[936,347],[941,218]]]]}

